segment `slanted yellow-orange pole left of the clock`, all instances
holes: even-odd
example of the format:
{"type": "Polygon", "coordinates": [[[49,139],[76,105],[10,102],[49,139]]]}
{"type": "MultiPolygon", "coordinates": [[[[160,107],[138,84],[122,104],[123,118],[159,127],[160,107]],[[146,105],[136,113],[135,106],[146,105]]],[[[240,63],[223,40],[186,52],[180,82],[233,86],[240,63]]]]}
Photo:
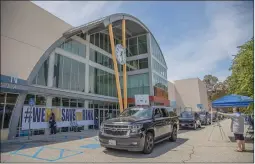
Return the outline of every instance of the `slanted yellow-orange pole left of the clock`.
{"type": "Polygon", "coordinates": [[[120,112],[122,112],[123,104],[122,104],[122,96],[121,96],[121,90],[120,90],[119,71],[118,71],[118,65],[117,65],[116,56],[115,56],[115,45],[114,45],[112,24],[109,24],[108,28],[109,28],[111,50],[112,50],[112,60],[113,60],[114,72],[115,72],[116,88],[117,88],[117,94],[118,94],[118,99],[119,99],[120,112]]]}

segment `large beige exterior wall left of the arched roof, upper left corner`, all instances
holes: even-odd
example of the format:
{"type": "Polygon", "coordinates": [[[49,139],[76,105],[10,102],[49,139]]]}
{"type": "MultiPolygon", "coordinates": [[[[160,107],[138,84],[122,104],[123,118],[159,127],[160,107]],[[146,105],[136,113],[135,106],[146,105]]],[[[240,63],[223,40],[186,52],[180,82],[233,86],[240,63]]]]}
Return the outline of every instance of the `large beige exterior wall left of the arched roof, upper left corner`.
{"type": "Polygon", "coordinates": [[[29,1],[1,1],[1,74],[27,80],[40,57],[72,26],[29,1]]]}

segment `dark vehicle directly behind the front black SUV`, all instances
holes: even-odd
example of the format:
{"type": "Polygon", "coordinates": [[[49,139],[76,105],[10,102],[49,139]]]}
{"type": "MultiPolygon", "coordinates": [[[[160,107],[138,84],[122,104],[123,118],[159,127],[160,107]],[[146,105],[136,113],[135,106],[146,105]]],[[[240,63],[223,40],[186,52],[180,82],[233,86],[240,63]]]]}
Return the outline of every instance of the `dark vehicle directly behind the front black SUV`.
{"type": "Polygon", "coordinates": [[[199,114],[193,111],[182,112],[179,117],[179,127],[180,129],[192,128],[194,130],[201,128],[202,124],[199,114]]]}

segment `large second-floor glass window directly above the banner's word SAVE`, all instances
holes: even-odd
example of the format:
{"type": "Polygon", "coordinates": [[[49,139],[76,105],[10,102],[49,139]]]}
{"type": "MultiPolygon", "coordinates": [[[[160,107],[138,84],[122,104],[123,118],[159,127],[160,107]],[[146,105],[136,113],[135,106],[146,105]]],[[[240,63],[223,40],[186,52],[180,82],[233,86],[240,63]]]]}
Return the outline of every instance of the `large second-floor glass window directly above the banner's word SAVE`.
{"type": "Polygon", "coordinates": [[[84,92],[85,64],[56,54],[53,86],[84,92]]]}

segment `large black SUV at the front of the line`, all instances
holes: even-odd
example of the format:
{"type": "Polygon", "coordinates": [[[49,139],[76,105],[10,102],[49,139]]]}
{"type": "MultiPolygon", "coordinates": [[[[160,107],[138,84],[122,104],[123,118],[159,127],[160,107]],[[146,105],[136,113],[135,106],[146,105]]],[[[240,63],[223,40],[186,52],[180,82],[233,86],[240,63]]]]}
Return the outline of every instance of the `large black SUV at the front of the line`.
{"type": "Polygon", "coordinates": [[[176,141],[178,122],[176,113],[167,107],[130,107],[101,124],[99,141],[105,148],[150,154],[154,144],[176,141]]]}

